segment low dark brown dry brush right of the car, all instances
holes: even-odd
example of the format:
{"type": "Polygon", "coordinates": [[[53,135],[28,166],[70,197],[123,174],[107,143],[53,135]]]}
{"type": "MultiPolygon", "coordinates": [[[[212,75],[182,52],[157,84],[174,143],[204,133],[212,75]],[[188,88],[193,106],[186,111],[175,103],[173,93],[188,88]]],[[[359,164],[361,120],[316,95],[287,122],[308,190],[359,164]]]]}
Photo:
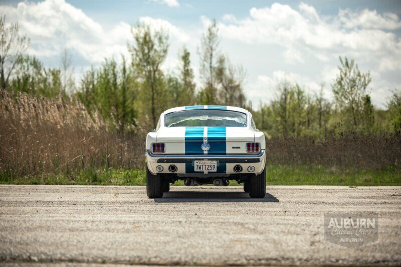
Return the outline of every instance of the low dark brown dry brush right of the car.
{"type": "Polygon", "coordinates": [[[401,132],[341,133],[323,141],[312,137],[267,141],[268,162],[330,167],[384,168],[401,164],[401,132]]]}

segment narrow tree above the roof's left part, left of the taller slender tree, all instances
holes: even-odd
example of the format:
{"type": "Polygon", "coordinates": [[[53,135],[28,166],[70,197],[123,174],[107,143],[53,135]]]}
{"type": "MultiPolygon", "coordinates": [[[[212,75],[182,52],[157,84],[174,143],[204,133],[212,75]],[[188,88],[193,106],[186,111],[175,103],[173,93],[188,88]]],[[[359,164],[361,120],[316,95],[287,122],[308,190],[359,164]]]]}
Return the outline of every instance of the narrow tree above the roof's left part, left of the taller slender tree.
{"type": "Polygon", "coordinates": [[[189,51],[184,47],[181,54],[181,83],[183,86],[183,94],[186,99],[186,105],[195,103],[195,88],[196,84],[193,81],[194,75],[191,68],[189,51]]]}

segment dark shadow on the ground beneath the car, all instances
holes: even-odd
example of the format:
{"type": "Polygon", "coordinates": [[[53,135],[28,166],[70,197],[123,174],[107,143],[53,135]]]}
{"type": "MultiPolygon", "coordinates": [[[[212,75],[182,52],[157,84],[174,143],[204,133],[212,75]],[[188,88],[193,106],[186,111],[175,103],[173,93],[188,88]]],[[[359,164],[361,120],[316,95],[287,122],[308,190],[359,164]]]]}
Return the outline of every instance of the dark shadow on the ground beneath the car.
{"type": "Polygon", "coordinates": [[[154,202],[280,202],[275,196],[266,193],[264,198],[250,198],[245,192],[219,191],[170,191],[162,198],[155,198],[154,202]]]}

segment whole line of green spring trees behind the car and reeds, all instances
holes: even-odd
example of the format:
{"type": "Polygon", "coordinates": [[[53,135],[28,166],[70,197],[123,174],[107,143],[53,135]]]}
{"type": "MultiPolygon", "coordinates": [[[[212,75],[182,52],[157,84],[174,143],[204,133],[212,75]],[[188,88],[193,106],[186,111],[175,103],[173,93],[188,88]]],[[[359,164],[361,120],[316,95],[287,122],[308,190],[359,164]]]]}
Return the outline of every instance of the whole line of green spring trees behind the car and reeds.
{"type": "Polygon", "coordinates": [[[75,82],[71,55],[64,50],[59,68],[46,68],[26,53],[27,36],[19,25],[0,18],[0,76],[2,90],[25,92],[65,101],[81,101],[89,113],[97,110],[124,133],[155,127],[159,114],[176,106],[229,105],[253,112],[260,130],[269,137],[313,136],[325,138],[343,131],[372,133],[401,129],[401,89],[392,91],[386,109],[371,103],[370,73],[363,73],[352,59],[339,57],[338,73],[330,85],[333,100],[311,94],[297,83],[280,81],[276,98],[263,99],[258,109],[244,93],[246,71],[231,63],[220,47],[219,29],[213,21],[200,39],[197,54],[201,83],[194,82],[190,53],[179,51],[177,74],[162,70],[169,49],[163,29],[137,23],[128,40],[129,57],[105,59],[99,67],[85,71],[75,82]]]}

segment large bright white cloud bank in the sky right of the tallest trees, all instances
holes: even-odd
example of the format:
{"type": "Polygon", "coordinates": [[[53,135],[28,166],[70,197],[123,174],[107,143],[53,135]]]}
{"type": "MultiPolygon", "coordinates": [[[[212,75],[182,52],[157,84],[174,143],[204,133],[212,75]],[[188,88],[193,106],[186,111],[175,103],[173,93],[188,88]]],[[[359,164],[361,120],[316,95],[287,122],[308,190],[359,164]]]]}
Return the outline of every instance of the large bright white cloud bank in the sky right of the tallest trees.
{"type": "Polygon", "coordinates": [[[401,22],[395,14],[381,16],[368,10],[355,18],[354,13],[346,13],[348,17],[344,14],[344,11],[340,11],[336,18],[326,19],[304,3],[299,5],[299,11],[275,3],[270,8],[252,8],[250,17],[243,20],[226,16],[218,26],[222,36],[228,39],[248,44],[283,46],[287,49],[285,58],[297,62],[302,62],[308,56],[325,61],[345,51],[354,57],[375,55],[377,64],[380,64],[380,58],[385,57],[387,63],[392,61],[391,66],[397,65],[401,59],[401,40],[391,32],[379,30],[398,28],[401,22]],[[338,23],[342,21],[344,24],[344,18],[351,18],[347,25],[363,24],[366,27],[345,30],[338,23]],[[377,27],[373,27],[373,24],[377,27]]]}

